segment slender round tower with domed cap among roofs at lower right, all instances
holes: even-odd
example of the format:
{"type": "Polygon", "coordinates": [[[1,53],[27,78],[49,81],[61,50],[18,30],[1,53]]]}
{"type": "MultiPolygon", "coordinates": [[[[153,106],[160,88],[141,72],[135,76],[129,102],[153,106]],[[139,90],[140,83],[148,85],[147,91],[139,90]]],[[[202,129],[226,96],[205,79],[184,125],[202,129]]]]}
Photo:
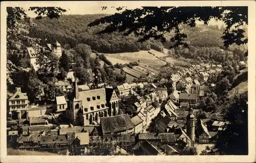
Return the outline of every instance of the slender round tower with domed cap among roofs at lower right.
{"type": "Polygon", "coordinates": [[[186,130],[186,132],[187,132],[188,137],[192,141],[191,145],[194,146],[194,143],[195,143],[195,121],[196,121],[196,118],[193,115],[193,108],[190,108],[186,119],[187,119],[187,122],[186,122],[187,130],[186,130]]]}

